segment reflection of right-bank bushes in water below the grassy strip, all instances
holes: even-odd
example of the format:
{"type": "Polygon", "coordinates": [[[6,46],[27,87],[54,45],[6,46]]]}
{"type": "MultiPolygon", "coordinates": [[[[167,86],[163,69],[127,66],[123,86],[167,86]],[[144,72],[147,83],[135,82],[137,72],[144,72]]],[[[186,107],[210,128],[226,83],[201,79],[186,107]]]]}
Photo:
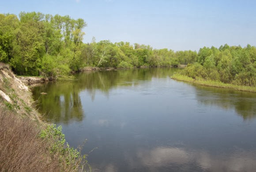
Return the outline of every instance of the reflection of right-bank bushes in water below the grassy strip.
{"type": "Polygon", "coordinates": [[[204,105],[217,105],[224,109],[234,108],[245,120],[256,117],[256,93],[196,86],[196,97],[204,105]]]}

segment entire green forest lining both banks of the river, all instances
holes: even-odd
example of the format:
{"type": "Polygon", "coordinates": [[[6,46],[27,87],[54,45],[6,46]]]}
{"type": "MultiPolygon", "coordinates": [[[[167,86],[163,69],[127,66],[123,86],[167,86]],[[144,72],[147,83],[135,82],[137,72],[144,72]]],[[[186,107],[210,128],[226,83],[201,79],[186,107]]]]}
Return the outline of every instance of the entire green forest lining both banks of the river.
{"type": "Polygon", "coordinates": [[[40,12],[0,14],[0,62],[16,75],[58,78],[84,67],[171,67],[188,65],[182,75],[193,79],[256,86],[256,47],[227,44],[198,52],[153,49],[150,45],[109,40],[83,43],[83,19],[40,12]]]}

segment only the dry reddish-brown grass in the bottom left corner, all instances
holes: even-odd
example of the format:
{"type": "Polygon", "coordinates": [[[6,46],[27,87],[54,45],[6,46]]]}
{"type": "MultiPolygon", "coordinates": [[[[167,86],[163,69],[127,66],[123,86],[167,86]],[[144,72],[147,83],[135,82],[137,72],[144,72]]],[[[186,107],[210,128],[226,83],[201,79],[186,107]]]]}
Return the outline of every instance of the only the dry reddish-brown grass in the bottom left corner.
{"type": "Polygon", "coordinates": [[[40,129],[30,120],[0,109],[0,171],[59,171],[49,153],[50,142],[38,139],[40,129]]]}

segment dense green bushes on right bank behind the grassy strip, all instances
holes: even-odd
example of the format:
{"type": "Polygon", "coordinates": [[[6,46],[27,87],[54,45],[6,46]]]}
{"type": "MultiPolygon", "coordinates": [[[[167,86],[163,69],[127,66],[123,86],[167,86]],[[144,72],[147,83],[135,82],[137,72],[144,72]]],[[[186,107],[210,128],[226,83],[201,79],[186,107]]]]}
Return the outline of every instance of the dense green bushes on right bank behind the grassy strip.
{"type": "Polygon", "coordinates": [[[256,47],[203,47],[198,52],[196,63],[188,65],[181,73],[193,79],[199,77],[234,85],[256,86],[256,47]]]}

